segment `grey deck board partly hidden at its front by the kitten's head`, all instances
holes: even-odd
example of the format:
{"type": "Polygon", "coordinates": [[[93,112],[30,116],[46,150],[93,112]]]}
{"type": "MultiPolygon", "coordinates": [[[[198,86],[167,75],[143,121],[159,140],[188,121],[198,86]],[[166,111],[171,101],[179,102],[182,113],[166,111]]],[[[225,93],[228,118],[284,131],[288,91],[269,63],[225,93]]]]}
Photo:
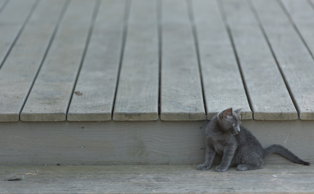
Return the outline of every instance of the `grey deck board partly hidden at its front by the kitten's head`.
{"type": "Polygon", "coordinates": [[[241,118],[252,119],[235,53],[216,1],[193,1],[193,13],[207,119],[230,107],[243,108],[241,118]]]}

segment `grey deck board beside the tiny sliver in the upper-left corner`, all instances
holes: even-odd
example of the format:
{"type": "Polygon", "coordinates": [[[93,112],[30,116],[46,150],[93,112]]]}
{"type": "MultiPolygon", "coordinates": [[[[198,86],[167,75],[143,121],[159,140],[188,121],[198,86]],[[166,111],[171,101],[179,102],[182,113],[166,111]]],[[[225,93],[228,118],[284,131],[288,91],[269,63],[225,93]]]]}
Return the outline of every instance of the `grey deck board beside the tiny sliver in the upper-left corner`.
{"type": "Polygon", "coordinates": [[[0,13],[0,67],[34,3],[35,0],[12,0],[6,4],[0,13]]]}

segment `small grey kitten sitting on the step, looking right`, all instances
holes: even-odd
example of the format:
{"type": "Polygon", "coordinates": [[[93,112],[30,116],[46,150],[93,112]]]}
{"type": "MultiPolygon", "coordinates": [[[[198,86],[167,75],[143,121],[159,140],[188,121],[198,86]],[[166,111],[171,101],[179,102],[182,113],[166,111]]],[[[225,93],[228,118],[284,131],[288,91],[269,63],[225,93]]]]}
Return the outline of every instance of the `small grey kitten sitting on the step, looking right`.
{"type": "Polygon", "coordinates": [[[310,165],[281,145],[271,145],[263,148],[251,132],[240,127],[241,109],[223,110],[209,121],[206,127],[206,155],[204,164],[198,165],[198,170],[208,170],[215,154],[222,156],[217,172],[226,171],[229,166],[237,166],[237,170],[255,170],[262,168],[266,155],[276,153],[295,162],[310,165]]]}

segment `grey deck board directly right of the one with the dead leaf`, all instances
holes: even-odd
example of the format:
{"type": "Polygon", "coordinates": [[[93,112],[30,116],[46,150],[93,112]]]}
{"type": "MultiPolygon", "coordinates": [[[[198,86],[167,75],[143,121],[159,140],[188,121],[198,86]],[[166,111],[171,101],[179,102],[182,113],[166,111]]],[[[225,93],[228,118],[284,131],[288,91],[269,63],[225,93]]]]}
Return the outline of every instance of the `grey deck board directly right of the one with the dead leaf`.
{"type": "Polygon", "coordinates": [[[159,44],[156,1],[132,1],[113,120],[158,119],[159,44]]]}

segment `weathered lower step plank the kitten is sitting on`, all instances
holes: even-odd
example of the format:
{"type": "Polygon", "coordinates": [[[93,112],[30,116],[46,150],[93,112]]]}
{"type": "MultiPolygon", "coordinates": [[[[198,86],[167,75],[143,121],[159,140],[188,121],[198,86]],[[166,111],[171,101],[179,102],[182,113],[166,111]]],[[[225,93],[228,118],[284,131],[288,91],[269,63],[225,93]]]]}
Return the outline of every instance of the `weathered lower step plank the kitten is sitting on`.
{"type": "Polygon", "coordinates": [[[3,193],[310,193],[313,168],[266,165],[253,171],[196,170],[196,165],[2,166],[3,193]],[[226,186],[227,185],[227,186],[226,186]]]}

